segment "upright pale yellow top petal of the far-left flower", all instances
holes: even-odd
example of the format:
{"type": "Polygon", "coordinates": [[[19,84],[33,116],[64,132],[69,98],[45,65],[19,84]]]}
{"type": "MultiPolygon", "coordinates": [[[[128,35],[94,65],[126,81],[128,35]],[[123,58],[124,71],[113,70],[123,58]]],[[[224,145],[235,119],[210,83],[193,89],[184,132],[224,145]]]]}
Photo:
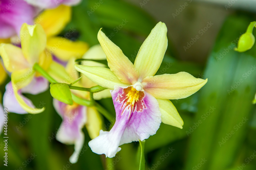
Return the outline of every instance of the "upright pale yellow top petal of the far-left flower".
{"type": "Polygon", "coordinates": [[[22,24],[20,28],[21,47],[24,57],[30,64],[39,61],[40,54],[46,47],[46,35],[40,24],[22,24]]]}

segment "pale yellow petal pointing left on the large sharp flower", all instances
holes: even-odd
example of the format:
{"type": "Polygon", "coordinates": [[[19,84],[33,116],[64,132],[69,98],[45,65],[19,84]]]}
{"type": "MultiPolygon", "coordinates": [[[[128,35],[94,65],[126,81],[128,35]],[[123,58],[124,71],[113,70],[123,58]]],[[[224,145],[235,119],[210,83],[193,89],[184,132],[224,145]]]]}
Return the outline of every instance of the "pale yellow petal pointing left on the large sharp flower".
{"type": "Polygon", "coordinates": [[[108,68],[99,66],[82,66],[78,64],[75,64],[74,66],[77,71],[81,72],[88,79],[102,87],[114,89],[115,85],[129,86],[128,84],[122,83],[118,77],[108,68]]]}

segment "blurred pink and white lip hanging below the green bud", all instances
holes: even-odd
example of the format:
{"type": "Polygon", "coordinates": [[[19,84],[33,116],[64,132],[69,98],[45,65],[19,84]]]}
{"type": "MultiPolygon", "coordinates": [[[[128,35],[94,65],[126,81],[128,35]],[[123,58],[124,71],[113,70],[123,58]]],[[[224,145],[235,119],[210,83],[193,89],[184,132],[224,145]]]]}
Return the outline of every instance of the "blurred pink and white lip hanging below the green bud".
{"type": "Polygon", "coordinates": [[[56,134],[56,139],[62,143],[75,145],[75,151],[70,156],[69,161],[76,163],[84,144],[82,128],[86,123],[87,108],[80,105],[69,106],[56,99],[54,99],[53,105],[57,113],[62,117],[62,123],[56,134]]]}

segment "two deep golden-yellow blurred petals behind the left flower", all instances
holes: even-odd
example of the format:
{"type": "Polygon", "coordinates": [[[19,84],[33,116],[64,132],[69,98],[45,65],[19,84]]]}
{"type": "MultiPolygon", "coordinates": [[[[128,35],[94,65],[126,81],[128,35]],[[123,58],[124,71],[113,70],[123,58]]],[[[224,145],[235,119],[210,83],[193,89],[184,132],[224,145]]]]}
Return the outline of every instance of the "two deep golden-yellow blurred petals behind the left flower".
{"type": "Polygon", "coordinates": [[[87,43],[82,41],[71,41],[67,37],[76,29],[70,28],[62,37],[58,35],[71,19],[71,7],[60,5],[54,9],[44,10],[35,22],[42,25],[47,36],[46,48],[61,61],[67,62],[71,57],[81,58],[88,50],[87,43]]]}

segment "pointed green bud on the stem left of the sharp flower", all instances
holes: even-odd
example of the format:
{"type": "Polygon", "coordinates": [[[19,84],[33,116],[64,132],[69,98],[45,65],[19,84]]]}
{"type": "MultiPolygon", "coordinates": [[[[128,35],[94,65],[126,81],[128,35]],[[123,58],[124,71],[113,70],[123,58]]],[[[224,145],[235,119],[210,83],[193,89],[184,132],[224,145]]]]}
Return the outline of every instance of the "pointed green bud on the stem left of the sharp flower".
{"type": "Polygon", "coordinates": [[[51,96],[63,103],[72,105],[71,91],[66,83],[51,83],[50,84],[51,96]]]}

